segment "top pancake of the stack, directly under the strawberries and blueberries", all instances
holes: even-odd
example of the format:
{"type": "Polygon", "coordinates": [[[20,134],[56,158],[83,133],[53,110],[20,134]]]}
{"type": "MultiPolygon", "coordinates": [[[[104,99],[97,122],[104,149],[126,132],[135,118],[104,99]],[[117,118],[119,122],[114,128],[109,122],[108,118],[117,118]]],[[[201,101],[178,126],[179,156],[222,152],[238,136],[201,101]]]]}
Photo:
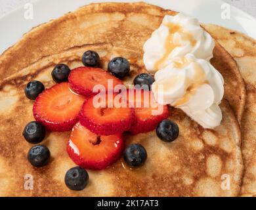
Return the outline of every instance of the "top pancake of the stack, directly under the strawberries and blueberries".
{"type": "Polygon", "coordinates": [[[113,56],[131,60],[127,84],[146,71],[142,54],[101,43],[45,56],[1,81],[0,196],[238,196],[243,172],[238,146],[241,135],[227,100],[221,104],[223,121],[215,130],[203,129],[181,110],[171,108],[169,118],[180,128],[175,142],[162,142],[155,132],[126,134],[127,145],[139,142],[146,148],[145,165],[130,170],[120,159],[106,170],[89,171],[89,185],[81,192],[73,192],[64,184],[66,171],[75,165],[66,153],[69,132],[49,133],[43,144],[51,150],[51,162],[42,169],[33,168],[27,160],[31,145],[22,137],[24,126],[33,120],[33,102],[24,95],[24,87],[31,79],[51,87],[54,65],[81,66],[81,56],[87,50],[100,54],[104,69],[113,56]],[[24,190],[26,175],[33,176],[33,190],[24,190]]]}

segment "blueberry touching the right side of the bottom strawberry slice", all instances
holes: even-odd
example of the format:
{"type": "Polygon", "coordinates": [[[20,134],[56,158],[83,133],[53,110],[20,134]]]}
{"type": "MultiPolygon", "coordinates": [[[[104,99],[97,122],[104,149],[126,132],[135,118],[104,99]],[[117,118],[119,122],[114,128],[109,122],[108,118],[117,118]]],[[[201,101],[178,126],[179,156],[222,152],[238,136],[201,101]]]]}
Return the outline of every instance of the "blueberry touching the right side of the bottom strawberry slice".
{"type": "Polygon", "coordinates": [[[141,144],[131,144],[126,148],[123,156],[127,165],[131,167],[143,165],[147,157],[146,150],[141,144]]]}

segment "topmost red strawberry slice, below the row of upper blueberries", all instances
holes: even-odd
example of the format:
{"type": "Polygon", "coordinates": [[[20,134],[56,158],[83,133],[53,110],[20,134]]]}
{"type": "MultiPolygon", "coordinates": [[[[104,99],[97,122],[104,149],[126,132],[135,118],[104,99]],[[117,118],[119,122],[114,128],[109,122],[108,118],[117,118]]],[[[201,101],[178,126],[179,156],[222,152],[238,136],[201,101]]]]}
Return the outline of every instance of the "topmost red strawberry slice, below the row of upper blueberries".
{"type": "MultiPolygon", "coordinates": [[[[100,69],[100,68],[90,68],[90,67],[79,67],[72,70],[68,81],[70,82],[70,87],[75,93],[84,96],[92,96],[100,93],[97,90],[96,93],[93,93],[95,85],[101,85],[104,87],[106,92],[113,91],[108,89],[108,80],[113,82],[113,87],[116,85],[123,85],[123,81],[114,77],[114,75],[100,69]]],[[[111,85],[112,86],[112,85],[111,85]]]]}

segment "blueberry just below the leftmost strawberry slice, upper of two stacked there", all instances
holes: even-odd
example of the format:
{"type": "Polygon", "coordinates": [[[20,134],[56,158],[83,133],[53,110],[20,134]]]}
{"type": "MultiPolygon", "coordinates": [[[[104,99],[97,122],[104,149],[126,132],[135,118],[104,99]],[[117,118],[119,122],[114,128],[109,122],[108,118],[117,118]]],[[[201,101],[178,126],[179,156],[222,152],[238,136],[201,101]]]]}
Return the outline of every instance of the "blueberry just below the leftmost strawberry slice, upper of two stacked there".
{"type": "Polygon", "coordinates": [[[23,136],[31,144],[39,144],[45,138],[45,127],[37,121],[32,121],[24,128],[23,136]]]}

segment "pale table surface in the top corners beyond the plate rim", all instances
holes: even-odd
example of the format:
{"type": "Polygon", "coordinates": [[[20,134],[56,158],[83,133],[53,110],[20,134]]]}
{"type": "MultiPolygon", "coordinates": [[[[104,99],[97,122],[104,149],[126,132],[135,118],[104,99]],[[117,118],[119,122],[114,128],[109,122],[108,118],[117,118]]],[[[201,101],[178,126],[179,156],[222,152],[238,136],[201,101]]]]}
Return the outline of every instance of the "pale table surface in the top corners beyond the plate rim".
{"type": "MultiPolygon", "coordinates": [[[[0,0],[0,16],[11,12],[18,7],[23,7],[24,4],[32,2],[34,0],[0,0]]],[[[163,0],[160,0],[163,1],[163,0]]],[[[168,1],[168,0],[165,0],[168,1]]],[[[191,0],[193,1],[193,0],[191,0]]],[[[243,11],[255,16],[256,18],[256,0],[223,0],[226,3],[230,3],[242,9],[243,11]]],[[[61,0],[60,0],[61,3],[61,0]]]]}

